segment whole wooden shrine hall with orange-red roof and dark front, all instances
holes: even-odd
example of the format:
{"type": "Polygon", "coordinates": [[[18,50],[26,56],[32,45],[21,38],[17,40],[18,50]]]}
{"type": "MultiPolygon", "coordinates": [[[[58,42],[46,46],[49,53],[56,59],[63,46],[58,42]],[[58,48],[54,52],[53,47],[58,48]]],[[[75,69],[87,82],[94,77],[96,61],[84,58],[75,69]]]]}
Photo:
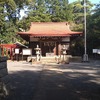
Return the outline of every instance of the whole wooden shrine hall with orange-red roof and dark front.
{"type": "Polygon", "coordinates": [[[29,31],[17,34],[29,42],[32,55],[36,55],[38,45],[42,56],[53,56],[60,55],[63,46],[69,50],[70,37],[80,36],[82,32],[71,31],[66,22],[32,22],[29,31]]]}

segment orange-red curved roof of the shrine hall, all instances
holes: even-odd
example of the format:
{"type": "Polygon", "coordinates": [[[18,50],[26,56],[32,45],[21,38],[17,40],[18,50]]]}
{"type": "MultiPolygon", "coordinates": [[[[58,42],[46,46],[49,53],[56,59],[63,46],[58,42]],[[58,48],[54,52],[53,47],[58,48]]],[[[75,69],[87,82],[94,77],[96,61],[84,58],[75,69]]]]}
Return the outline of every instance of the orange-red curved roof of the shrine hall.
{"type": "Polygon", "coordinates": [[[69,28],[66,22],[32,22],[29,31],[18,32],[19,35],[29,36],[71,36],[81,34],[82,32],[74,32],[69,28]]]}

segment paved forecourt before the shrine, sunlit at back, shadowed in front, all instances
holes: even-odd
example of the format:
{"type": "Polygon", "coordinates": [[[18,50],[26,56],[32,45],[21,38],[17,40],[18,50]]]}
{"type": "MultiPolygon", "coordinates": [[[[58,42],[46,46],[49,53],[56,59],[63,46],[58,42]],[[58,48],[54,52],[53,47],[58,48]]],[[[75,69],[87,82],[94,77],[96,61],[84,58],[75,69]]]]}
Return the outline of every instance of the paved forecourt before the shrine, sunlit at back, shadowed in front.
{"type": "Polygon", "coordinates": [[[100,62],[33,64],[8,62],[7,100],[100,100],[100,62]]]}

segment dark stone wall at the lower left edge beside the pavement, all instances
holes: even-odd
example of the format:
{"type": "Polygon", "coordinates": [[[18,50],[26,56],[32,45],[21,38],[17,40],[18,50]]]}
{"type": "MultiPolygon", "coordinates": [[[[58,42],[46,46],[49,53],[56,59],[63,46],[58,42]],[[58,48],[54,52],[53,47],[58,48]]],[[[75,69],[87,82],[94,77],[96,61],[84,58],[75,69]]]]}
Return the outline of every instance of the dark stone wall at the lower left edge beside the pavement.
{"type": "Polygon", "coordinates": [[[8,83],[7,57],[0,57],[0,98],[9,94],[8,83]]]}

